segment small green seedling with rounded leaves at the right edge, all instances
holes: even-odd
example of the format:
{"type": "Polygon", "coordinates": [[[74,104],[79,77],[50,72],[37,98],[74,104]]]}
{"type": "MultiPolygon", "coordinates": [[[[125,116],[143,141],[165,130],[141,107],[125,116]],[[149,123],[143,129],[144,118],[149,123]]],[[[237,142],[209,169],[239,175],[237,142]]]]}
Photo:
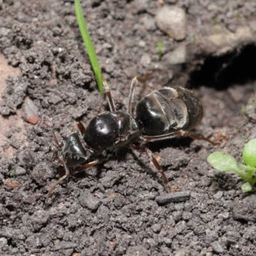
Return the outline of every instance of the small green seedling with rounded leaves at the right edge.
{"type": "Polygon", "coordinates": [[[207,157],[207,161],[221,172],[236,172],[245,182],[241,189],[248,192],[256,183],[256,139],[244,145],[242,156],[245,164],[237,164],[233,156],[222,151],[212,153],[207,157]]]}

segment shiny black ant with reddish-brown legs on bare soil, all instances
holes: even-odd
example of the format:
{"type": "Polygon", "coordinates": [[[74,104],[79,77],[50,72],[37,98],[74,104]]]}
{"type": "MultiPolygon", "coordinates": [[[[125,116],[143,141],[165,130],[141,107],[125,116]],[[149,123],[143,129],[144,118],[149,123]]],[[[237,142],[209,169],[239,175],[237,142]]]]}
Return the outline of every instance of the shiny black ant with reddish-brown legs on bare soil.
{"type": "Polygon", "coordinates": [[[121,148],[129,145],[132,150],[148,154],[154,166],[163,176],[164,183],[168,184],[173,191],[174,187],[168,183],[156,157],[147,147],[143,147],[143,142],[188,136],[193,140],[205,140],[212,145],[218,145],[203,136],[189,132],[201,121],[203,109],[195,94],[185,88],[165,87],[154,90],[140,100],[136,107],[136,118],[134,118],[132,116],[132,100],[138,81],[143,83],[142,78],[132,79],[127,112],[116,111],[108,84],[104,81],[110,112],[95,116],[86,129],[81,122],[77,122],[72,132],[61,144],[53,129],[46,124],[51,129],[52,137],[58,147],[56,158],[60,159],[65,168],[65,175],[55,182],[47,193],[46,202],[51,192],[62,180],[100,163],[101,159],[96,157],[107,148],[121,148]],[[77,128],[83,136],[83,141],[79,138],[77,128]],[[96,156],[96,159],[90,163],[86,163],[88,161],[87,150],[92,156],[96,156]],[[74,172],[69,172],[68,167],[76,167],[81,164],[84,165],[74,172]]]}

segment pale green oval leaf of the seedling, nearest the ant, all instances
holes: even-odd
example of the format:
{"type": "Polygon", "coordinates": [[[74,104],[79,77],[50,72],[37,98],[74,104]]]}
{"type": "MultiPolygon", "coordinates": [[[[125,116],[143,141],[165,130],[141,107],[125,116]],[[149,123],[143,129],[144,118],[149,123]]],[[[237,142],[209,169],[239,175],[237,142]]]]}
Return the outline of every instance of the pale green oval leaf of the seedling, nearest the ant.
{"type": "Polygon", "coordinates": [[[212,164],[212,167],[221,172],[240,172],[239,167],[237,165],[236,159],[222,151],[217,151],[212,153],[207,157],[207,161],[212,164]]]}

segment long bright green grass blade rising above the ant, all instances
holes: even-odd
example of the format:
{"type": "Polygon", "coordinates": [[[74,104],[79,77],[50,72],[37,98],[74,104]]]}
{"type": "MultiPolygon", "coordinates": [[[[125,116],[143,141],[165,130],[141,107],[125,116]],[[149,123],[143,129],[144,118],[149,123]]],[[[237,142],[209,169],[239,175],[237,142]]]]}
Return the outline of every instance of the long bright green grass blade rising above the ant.
{"type": "Polygon", "coordinates": [[[100,66],[99,62],[97,60],[97,56],[95,54],[95,50],[93,48],[92,40],[90,38],[90,35],[88,33],[88,29],[86,27],[86,22],[84,20],[83,16],[83,11],[81,8],[81,4],[79,0],[75,0],[75,10],[76,10],[76,17],[77,17],[77,22],[79,25],[79,29],[81,32],[81,35],[84,40],[85,47],[87,49],[91,64],[92,64],[92,69],[96,77],[96,81],[100,90],[100,94],[104,95],[104,90],[103,90],[103,83],[102,83],[102,76],[100,72],[100,66]]]}

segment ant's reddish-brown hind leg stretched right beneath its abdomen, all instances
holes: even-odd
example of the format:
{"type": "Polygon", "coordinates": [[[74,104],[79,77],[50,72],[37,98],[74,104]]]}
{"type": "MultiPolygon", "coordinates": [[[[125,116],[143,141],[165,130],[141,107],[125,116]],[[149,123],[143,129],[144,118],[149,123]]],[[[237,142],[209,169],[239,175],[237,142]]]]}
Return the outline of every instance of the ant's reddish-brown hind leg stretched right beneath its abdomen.
{"type": "Polygon", "coordinates": [[[209,140],[209,139],[205,138],[204,136],[197,135],[197,134],[189,132],[189,131],[182,131],[182,130],[177,131],[177,132],[170,132],[170,133],[163,134],[163,135],[157,135],[157,136],[142,136],[142,139],[145,141],[160,141],[160,140],[167,140],[170,138],[174,138],[177,136],[188,136],[189,138],[191,138],[193,140],[205,140],[214,146],[220,145],[220,143],[209,140]]]}

